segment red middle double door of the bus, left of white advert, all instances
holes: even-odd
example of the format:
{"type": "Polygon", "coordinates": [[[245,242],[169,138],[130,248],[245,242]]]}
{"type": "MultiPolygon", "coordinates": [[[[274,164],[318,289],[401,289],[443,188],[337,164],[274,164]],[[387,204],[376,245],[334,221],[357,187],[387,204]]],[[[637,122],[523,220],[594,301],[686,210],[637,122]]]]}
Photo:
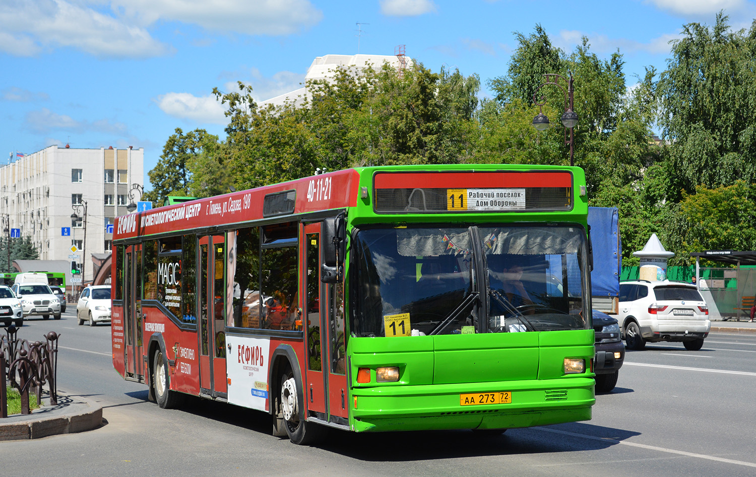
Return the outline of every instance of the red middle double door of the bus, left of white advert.
{"type": "Polygon", "coordinates": [[[226,380],[225,334],[225,251],[224,235],[200,237],[200,388],[206,395],[225,398],[226,380]]]}

